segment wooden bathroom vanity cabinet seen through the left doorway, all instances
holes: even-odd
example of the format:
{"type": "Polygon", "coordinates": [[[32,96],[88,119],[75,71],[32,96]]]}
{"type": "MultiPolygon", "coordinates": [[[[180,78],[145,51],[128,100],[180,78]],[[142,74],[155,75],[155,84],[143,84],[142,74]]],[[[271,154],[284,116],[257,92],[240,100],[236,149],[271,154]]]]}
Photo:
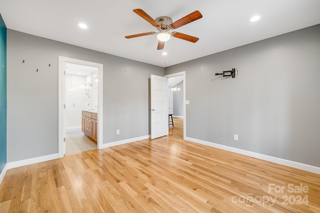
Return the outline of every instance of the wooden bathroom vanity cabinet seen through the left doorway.
{"type": "Polygon", "coordinates": [[[93,141],[97,141],[97,114],[89,111],[82,111],[82,132],[93,141]]]}

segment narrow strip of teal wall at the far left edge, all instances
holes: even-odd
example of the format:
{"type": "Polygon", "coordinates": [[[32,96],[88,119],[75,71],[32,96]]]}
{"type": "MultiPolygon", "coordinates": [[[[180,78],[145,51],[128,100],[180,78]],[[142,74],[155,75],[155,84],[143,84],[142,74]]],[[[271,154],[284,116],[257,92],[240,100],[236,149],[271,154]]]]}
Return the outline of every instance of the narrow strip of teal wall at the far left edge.
{"type": "Polygon", "coordinates": [[[6,164],[6,27],[0,14],[0,173],[6,164]]]}

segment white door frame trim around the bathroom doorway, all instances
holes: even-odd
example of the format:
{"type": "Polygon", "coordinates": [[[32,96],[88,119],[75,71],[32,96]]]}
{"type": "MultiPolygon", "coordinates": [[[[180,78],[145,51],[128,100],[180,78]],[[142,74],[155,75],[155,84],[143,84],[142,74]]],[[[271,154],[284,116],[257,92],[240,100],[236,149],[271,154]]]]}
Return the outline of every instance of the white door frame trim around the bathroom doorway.
{"type": "Polygon", "coordinates": [[[75,58],[68,58],[64,56],[58,56],[58,158],[62,158],[63,155],[63,130],[64,130],[64,110],[63,110],[63,94],[65,91],[63,75],[63,63],[73,63],[84,66],[96,67],[98,69],[98,134],[97,134],[97,148],[102,149],[103,144],[103,64],[79,60],[75,58]]]}

